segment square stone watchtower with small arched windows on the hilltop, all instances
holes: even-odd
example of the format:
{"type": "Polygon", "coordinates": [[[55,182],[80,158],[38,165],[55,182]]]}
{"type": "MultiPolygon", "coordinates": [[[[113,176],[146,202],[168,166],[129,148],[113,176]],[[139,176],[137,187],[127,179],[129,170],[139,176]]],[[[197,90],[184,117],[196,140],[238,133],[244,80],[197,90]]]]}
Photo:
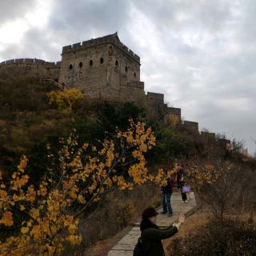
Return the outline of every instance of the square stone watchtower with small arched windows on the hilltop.
{"type": "Polygon", "coordinates": [[[120,100],[128,88],[144,94],[140,58],[120,42],[117,33],[64,46],[59,82],[91,98],[120,100]]]}

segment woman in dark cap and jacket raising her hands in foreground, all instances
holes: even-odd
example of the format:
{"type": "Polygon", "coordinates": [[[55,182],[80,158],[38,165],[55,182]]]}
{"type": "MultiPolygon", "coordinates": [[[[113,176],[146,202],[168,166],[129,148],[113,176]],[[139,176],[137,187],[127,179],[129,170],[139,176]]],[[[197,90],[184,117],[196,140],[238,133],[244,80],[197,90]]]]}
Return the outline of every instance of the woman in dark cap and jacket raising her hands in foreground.
{"type": "Polygon", "coordinates": [[[164,256],[162,239],[170,238],[178,232],[179,226],[185,221],[184,214],[179,214],[178,221],[166,229],[159,229],[156,225],[158,212],[154,207],[148,207],[142,213],[142,249],[145,256],[164,256]]]}

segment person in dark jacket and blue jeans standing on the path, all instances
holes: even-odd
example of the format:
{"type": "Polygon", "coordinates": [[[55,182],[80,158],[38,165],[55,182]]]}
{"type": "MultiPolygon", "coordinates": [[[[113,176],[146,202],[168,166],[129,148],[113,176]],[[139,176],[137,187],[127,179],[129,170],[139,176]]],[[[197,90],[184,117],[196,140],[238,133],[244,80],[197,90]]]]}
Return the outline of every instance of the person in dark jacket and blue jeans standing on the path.
{"type": "Polygon", "coordinates": [[[172,178],[170,175],[166,172],[166,186],[161,186],[161,192],[162,192],[162,214],[168,214],[167,216],[171,217],[173,216],[173,210],[170,205],[170,196],[173,193],[173,186],[174,186],[174,178],[172,178]]]}

